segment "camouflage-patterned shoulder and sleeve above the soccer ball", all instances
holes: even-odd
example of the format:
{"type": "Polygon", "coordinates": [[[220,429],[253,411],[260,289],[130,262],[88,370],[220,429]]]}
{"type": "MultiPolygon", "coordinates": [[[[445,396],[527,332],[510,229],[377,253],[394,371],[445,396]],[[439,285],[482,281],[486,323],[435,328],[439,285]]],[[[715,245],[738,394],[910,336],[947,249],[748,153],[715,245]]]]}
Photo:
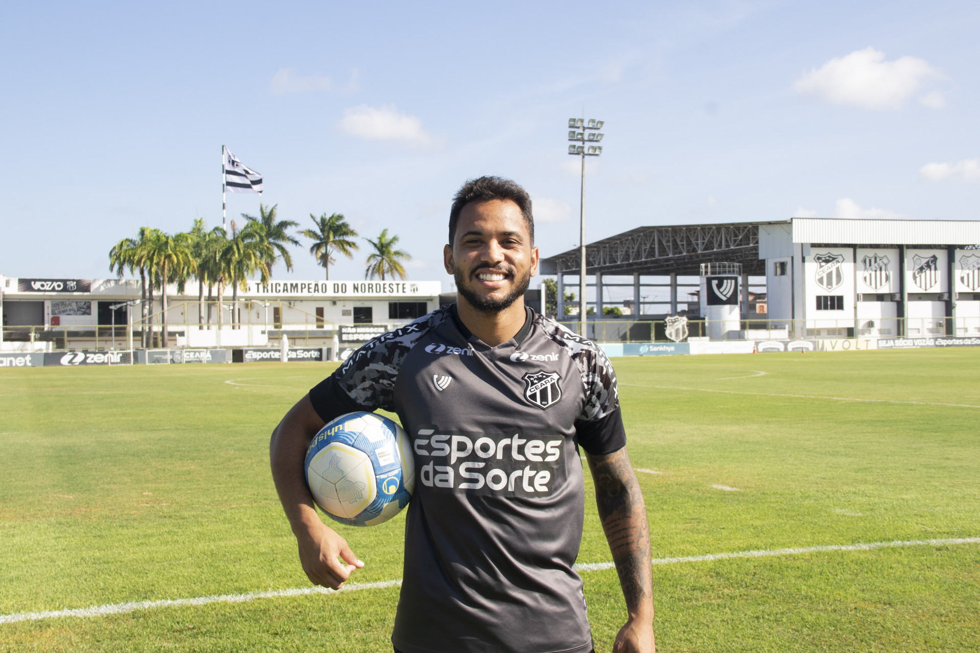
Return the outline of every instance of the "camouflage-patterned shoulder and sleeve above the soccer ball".
{"type": "MultiPolygon", "coordinates": [[[[394,410],[395,381],[405,356],[422,335],[444,319],[444,312],[443,309],[436,310],[369,340],[337,368],[332,375],[332,385],[363,410],[394,410]]],[[[313,391],[311,398],[314,398],[313,391]]],[[[317,407],[316,401],[314,407],[317,407]]]]}

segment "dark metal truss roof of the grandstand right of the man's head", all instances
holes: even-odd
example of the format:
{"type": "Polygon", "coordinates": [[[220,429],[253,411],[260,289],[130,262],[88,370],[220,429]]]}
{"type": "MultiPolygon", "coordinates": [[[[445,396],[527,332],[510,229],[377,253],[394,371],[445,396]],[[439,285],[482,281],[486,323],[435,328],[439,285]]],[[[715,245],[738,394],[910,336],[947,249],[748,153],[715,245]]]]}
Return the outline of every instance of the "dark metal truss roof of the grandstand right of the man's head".
{"type": "MultiPolygon", "coordinates": [[[[586,273],[697,276],[701,263],[742,263],[745,274],[765,274],[759,227],[789,220],[637,227],[585,246],[586,273]]],[[[577,274],[579,249],[541,259],[542,274],[577,274]]]]}

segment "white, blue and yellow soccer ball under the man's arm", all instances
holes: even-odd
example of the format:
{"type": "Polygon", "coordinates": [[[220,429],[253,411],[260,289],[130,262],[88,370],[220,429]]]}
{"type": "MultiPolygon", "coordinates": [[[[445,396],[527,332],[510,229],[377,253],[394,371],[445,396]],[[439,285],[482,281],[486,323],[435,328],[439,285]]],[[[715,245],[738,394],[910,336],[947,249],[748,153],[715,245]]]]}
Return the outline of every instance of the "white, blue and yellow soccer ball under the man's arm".
{"type": "Polygon", "coordinates": [[[387,417],[341,415],[307,449],[307,485],[323,512],[341,524],[386,522],[409,504],[416,488],[411,446],[402,427],[387,417]]]}

